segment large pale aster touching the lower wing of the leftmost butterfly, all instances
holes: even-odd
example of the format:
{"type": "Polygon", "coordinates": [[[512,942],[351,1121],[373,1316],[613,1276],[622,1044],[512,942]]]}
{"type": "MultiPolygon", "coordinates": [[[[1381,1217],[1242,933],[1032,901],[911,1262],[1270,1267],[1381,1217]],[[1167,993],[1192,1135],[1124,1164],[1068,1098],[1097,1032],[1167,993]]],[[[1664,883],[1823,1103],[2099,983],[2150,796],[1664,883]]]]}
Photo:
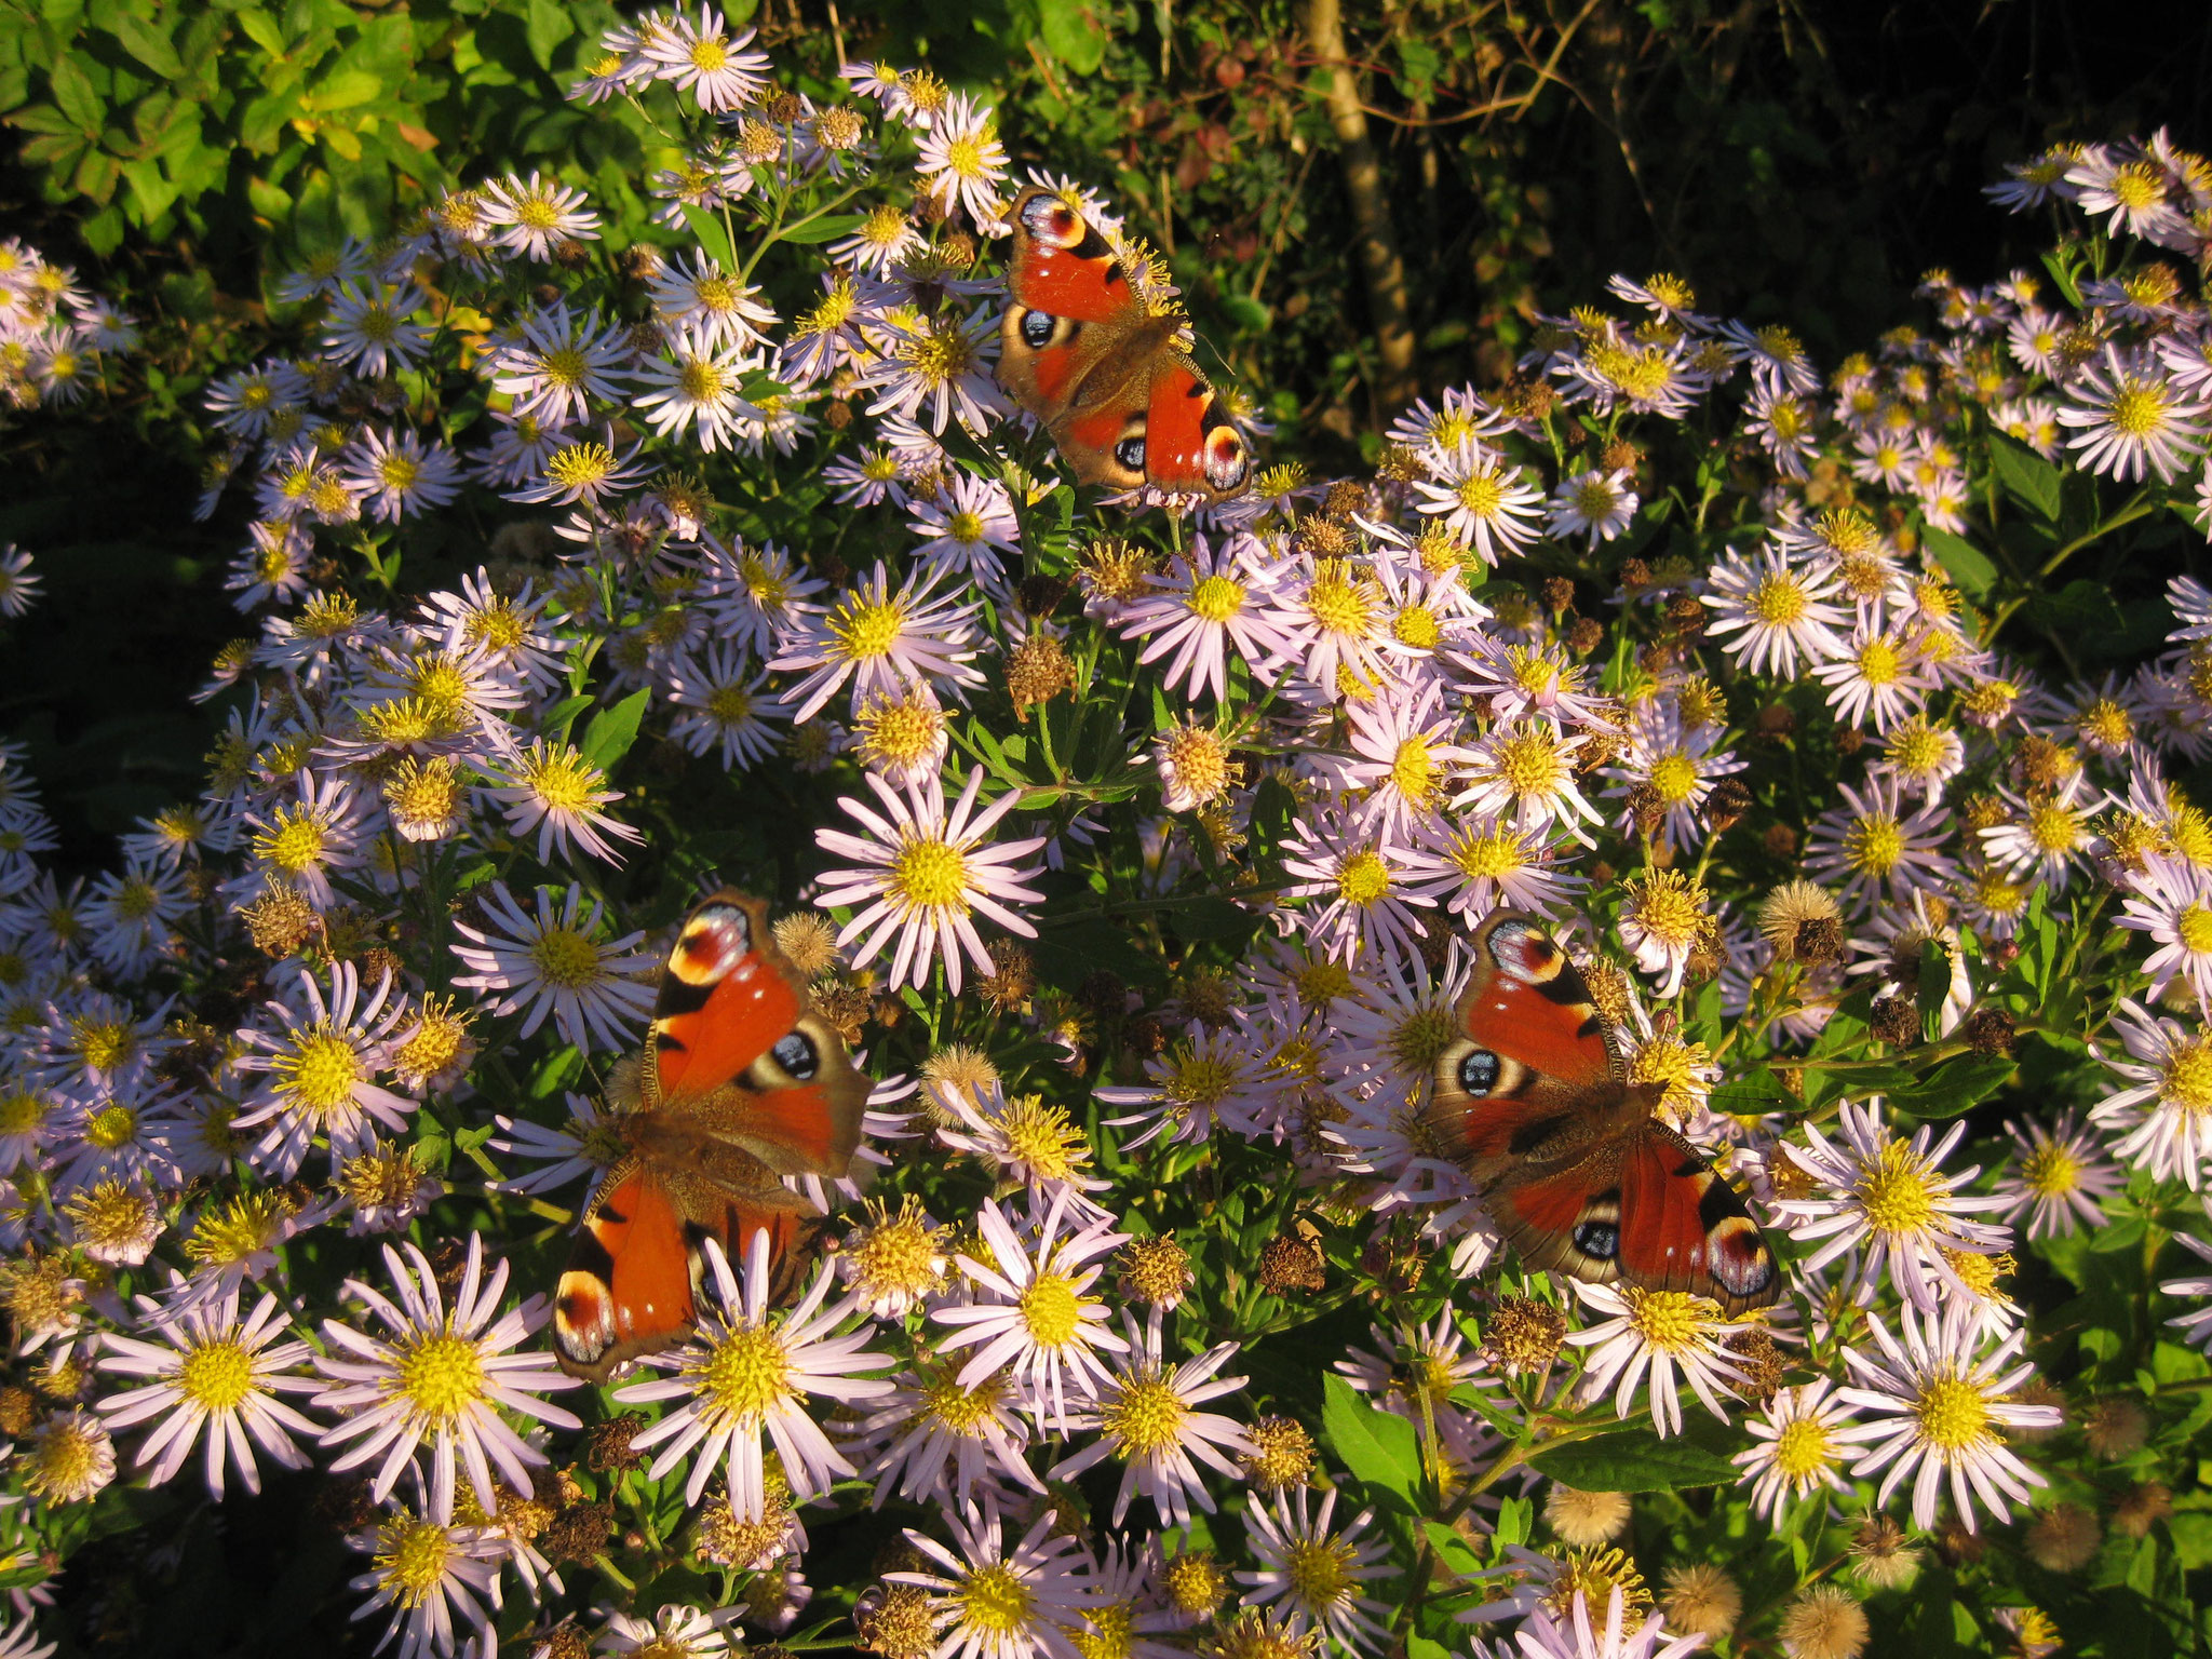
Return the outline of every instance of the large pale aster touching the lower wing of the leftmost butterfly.
{"type": "Polygon", "coordinates": [[[814,1274],[796,1307],[768,1312],[768,1228],[757,1228],[745,1243],[743,1281],[714,1239],[706,1241],[706,1265],[714,1296],[701,1310],[697,1334],[684,1347],[646,1360],[672,1376],[615,1389],[615,1398],[626,1405],[681,1400],[630,1442],[637,1451],[655,1451],[648,1480],[690,1458],[684,1502],[697,1504],[721,1467],[730,1482],[730,1513],[739,1522],[759,1522],[768,1513],[763,1436],[776,1449],[794,1500],[825,1493],[836,1475],[858,1471],[807,1416],[805,1398],[849,1405],[889,1394],[887,1378],[860,1376],[889,1360],[869,1352],[869,1325],[836,1334],[856,1312],[856,1298],[823,1307],[836,1283],[830,1263],[814,1274]]]}

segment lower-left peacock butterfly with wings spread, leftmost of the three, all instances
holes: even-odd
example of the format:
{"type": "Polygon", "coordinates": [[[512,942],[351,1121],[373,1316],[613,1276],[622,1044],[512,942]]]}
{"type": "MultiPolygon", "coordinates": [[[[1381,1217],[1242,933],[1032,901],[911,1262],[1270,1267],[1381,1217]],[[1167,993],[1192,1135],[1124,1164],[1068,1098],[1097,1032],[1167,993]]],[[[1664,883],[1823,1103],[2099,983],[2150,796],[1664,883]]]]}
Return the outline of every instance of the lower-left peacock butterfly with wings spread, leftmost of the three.
{"type": "Polygon", "coordinates": [[[622,1159],[553,1296],[560,1367],[595,1383],[692,1327],[708,1239],[734,1263],[768,1232],[774,1261],[796,1261],[807,1206],[779,1177],[845,1175],[867,1108],[867,1079],[776,949],[768,905],[734,891],[684,920],[646,1053],[606,1093],[622,1159]]]}

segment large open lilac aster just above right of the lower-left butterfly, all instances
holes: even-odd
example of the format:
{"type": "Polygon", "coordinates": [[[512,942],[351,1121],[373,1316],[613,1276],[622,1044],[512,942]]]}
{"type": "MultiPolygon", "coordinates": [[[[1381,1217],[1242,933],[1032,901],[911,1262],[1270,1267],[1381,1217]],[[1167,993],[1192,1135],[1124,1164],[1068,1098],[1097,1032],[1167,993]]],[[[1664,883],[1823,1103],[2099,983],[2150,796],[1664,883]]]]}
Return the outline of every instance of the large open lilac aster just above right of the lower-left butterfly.
{"type": "Polygon", "coordinates": [[[838,949],[852,949],[852,962],[872,962],[896,936],[891,984],[929,982],[929,964],[942,962],[947,984],[960,991],[962,958],[978,973],[993,973],[991,953],[975,931],[982,911],[1013,933],[1035,938],[1035,927],[1009,905],[1035,902],[1042,894],[1024,883],[1037,876],[1022,865],[1044,845],[1044,836],[1026,836],[989,845],[991,832],[1020,803],[1009,790],[982,812],[982,768],[969,772],[967,787],[951,812],[945,810],[945,785],[936,772],[909,779],[894,790],[869,772],[867,785],[878,807],[845,796],[838,805],[869,832],[854,836],[843,830],[818,830],[823,852],[858,860],[860,869],[832,869],[823,876],[816,905],[836,909],[854,905],[856,914],[838,931],[838,949]]]}

